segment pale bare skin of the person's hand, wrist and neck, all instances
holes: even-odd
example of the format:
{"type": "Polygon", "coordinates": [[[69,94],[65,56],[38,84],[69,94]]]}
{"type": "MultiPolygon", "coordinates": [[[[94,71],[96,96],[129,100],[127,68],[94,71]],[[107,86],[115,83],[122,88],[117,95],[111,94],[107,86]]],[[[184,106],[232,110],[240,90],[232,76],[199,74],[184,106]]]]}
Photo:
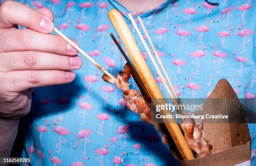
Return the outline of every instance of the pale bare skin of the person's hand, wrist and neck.
{"type": "MultiPolygon", "coordinates": [[[[133,15],[149,10],[121,1],[133,15]]],[[[70,70],[82,66],[77,50],[60,36],[49,34],[53,28],[54,16],[47,8],[34,10],[13,0],[0,4],[0,157],[10,156],[19,120],[31,109],[33,88],[70,83],[75,79],[70,70]]]]}

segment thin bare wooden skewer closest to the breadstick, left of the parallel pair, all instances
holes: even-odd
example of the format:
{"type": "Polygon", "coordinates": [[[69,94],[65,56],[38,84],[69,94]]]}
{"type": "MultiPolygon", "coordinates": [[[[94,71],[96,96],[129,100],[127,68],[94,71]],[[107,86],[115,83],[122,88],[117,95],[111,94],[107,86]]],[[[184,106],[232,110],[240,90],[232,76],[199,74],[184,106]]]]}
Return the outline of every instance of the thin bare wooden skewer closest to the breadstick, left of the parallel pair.
{"type": "MultiPolygon", "coordinates": [[[[169,97],[171,98],[173,104],[176,105],[176,101],[174,100],[174,97],[173,97],[173,95],[172,95],[172,92],[170,91],[168,85],[166,84],[166,82],[165,82],[165,80],[164,80],[164,77],[163,77],[163,75],[161,74],[160,69],[158,68],[158,66],[157,66],[157,64],[156,64],[156,61],[154,60],[153,55],[152,55],[151,52],[149,51],[148,46],[147,46],[147,44],[146,44],[146,41],[144,40],[144,38],[143,38],[143,36],[142,36],[140,30],[138,29],[138,26],[136,25],[135,20],[133,19],[133,16],[131,15],[131,13],[128,14],[128,17],[130,18],[131,23],[133,24],[134,29],[135,29],[136,32],[138,33],[138,36],[139,36],[139,38],[141,39],[141,42],[142,42],[143,46],[145,47],[146,52],[148,53],[148,56],[149,56],[149,58],[151,59],[152,64],[154,65],[157,74],[159,75],[161,81],[163,82],[164,87],[165,87],[165,89],[166,89],[166,91],[167,91],[169,97]]],[[[180,112],[179,109],[177,109],[177,112],[178,112],[180,115],[182,115],[182,112],[180,112]]]]}

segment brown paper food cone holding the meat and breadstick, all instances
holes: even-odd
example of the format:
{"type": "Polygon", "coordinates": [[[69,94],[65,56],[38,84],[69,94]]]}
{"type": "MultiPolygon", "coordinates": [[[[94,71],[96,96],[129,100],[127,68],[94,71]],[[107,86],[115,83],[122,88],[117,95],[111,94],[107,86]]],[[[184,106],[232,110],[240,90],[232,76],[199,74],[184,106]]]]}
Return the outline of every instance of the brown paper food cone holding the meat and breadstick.
{"type": "MultiPolygon", "coordinates": [[[[217,100],[218,101],[218,100],[217,100]]],[[[225,101],[225,100],[220,100],[225,101]]],[[[231,85],[226,79],[220,79],[212,93],[205,101],[203,109],[198,115],[222,114],[228,111],[241,110],[241,104],[231,85]],[[211,99],[232,99],[232,103],[213,103],[211,99]],[[211,100],[211,102],[210,102],[211,100]],[[236,108],[234,108],[236,107],[236,108]]],[[[231,111],[232,112],[232,111],[231,111]]],[[[242,115],[244,117],[244,115],[242,115]]],[[[241,118],[241,115],[240,115],[241,118]]],[[[245,118],[245,117],[244,117],[245,118]]],[[[251,137],[247,123],[204,123],[203,132],[206,140],[212,145],[212,154],[182,161],[177,158],[181,166],[233,166],[250,160],[251,137]]],[[[175,155],[174,155],[175,156],[175,155]]]]}

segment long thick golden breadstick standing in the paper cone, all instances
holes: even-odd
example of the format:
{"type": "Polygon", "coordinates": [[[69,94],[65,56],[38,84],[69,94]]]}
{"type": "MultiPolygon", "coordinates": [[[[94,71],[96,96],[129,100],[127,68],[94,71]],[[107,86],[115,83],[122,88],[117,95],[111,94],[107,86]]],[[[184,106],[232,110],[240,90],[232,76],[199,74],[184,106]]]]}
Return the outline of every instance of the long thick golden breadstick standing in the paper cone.
{"type": "MultiPolygon", "coordinates": [[[[157,100],[159,103],[154,104],[165,105],[164,96],[156,84],[156,81],[151,71],[149,70],[148,65],[146,64],[146,61],[143,59],[141,51],[138,48],[127,24],[125,23],[123,16],[118,10],[113,9],[108,13],[108,17],[113,23],[115,30],[118,32],[118,35],[120,36],[120,39],[123,42],[125,49],[127,50],[139,76],[141,77],[143,84],[148,90],[150,97],[152,99],[163,99],[157,100]]],[[[167,115],[169,114],[169,110],[161,110],[160,114],[167,115]]],[[[163,121],[182,158],[184,160],[195,159],[177,122],[174,119],[164,119],[163,121]]]]}

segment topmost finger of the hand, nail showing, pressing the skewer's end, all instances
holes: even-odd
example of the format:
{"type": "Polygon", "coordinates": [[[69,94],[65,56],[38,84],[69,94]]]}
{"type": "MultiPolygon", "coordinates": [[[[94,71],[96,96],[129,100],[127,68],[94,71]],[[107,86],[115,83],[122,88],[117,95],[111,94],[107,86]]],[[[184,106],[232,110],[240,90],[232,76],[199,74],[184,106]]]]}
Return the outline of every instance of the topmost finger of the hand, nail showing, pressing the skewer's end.
{"type": "Polygon", "coordinates": [[[0,28],[20,25],[40,33],[50,33],[54,23],[43,13],[15,0],[0,4],[0,28]]]}

